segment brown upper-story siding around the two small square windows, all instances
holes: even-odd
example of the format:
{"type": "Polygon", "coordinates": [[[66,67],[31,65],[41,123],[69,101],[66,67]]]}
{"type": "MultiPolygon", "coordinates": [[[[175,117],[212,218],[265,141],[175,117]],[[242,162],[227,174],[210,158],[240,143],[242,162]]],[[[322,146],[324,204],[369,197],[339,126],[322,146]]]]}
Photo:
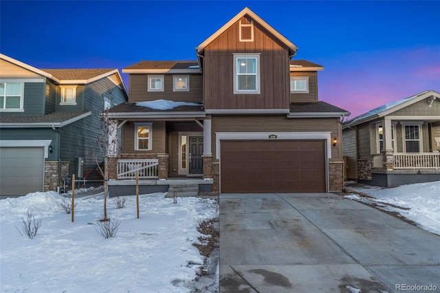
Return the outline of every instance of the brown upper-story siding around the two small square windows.
{"type": "Polygon", "coordinates": [[[164,91],[148,91],[148,75],[154,74],[129,75],[129,102],[145,102],[160,99],[173,100],[175,102],[203,101],[203,76],[201,74],[190,74],[189,91],[173,91],[173,74],[164,75],[164,91]]]}

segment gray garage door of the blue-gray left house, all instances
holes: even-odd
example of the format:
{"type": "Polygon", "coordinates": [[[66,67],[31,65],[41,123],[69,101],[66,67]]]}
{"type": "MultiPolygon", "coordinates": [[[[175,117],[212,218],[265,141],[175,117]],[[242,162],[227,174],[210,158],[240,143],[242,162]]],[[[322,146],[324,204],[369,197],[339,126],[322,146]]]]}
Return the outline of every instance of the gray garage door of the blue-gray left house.
{"type": "Polygon", "coordinates": [[[43,191],[44,148],[0,148],[0,195],[43,191]]]}

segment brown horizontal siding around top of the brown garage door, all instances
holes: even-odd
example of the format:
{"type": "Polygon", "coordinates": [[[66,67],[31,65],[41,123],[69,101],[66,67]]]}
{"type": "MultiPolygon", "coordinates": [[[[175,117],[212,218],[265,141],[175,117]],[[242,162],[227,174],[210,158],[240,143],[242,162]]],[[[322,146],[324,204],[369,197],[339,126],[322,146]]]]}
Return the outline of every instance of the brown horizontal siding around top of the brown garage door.
{"type": "MultiPolygon", "coordinates": [[[[212,116],[211,121],[212,133],[331,131],[332,138],[340,133],[339,118],[287,119],[283,116],[212,116]]],[[[215,135],[212,135],[211,146],[213,158],[216,158],[215,135]]],[[[339,147],[332,144],[332,160],[342,160],[339,147]]]]}

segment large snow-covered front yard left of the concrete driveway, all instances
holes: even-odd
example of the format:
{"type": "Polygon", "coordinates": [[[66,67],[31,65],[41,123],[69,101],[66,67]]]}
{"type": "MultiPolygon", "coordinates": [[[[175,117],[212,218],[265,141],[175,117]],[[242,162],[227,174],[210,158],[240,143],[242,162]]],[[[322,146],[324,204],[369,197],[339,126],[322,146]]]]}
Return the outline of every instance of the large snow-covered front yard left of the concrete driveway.
{"type": "Polygon", "coordinates": [[[164,195],[140,195],[140,219],[135,196],[126,197],[121,209],[108,199],[108,217],[120,221],[118,233],[108,239],[97,232],[102,195],[76,198],[73,223],[58,193],[1,199],[1,292],[190,291],[203,265],[192,246],[202,236],[197,227],[218,217],[218,206],[195,197],[173,204],[164,195]],[[28,210],[41,219],[34,239],[21,236],[28,210]]]}

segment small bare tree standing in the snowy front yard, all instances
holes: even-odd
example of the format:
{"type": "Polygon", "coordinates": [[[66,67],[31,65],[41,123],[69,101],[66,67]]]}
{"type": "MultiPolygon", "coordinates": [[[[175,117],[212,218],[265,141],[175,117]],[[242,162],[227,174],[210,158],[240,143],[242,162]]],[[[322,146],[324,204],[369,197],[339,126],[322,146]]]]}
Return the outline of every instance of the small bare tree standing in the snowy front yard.
{"type": "Polygon", "coordinates": [[[107,195],[109,191],[109,169],[118,162],[118,120],[109,118],[109,109],[113,105],[113,96],[111,89],[102,94],[102,113],[100,113],[99,133],[96,137],[99,152],[104,158],[104,164],[100,164],[98,154],[92,153],[97,164],[97,171],[104,179],[104,217],[107,221],[107,195]]]}

